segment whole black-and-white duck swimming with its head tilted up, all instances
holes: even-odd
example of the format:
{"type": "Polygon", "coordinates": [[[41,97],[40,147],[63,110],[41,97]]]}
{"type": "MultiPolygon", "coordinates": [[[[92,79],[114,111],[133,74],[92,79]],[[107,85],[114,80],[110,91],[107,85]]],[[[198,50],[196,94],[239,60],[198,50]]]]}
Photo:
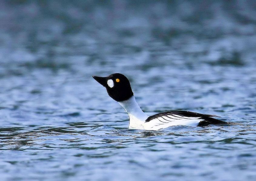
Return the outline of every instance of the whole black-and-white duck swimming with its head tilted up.
{"type": "Polygon", "coordinates": [[[174,125],[228,124],[228,122],[212,118],[219,116],[189,111],[168,111],[148,116],[138,106],[131,90],[131,84],[124,75],[115,73],[107,77],[92,77],[103,85],[107,89],[108,95],[116,100],[128,113],[130,118],[129,129],[158,130],[174,125]]]}

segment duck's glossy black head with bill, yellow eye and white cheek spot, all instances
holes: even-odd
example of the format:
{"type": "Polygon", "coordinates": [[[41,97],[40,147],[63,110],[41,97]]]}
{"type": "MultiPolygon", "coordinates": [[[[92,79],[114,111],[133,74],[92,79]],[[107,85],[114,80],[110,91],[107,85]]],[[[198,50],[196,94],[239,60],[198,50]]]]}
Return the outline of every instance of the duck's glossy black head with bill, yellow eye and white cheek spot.
{"type": "Polygon", "coordinates": [[[107,77],[92,76],[98,83],[106,87],[108,95],[116,101],[128,100],[133,96],[131,84],[124,75],[115,73],[107,77]]]}

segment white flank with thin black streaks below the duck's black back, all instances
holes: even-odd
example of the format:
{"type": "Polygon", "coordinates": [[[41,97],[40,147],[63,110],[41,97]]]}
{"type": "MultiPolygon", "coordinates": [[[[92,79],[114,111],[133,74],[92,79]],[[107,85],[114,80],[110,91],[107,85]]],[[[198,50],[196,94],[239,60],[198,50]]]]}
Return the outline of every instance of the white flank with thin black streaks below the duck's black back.
{"type": "Polygon", "coordinates": [[[150,120],[149,122],[145,122],[144,129],[158,130],[175,125],[197,126],[200,121],[204,120],[200,118],[201,117],[187,117],[176,114],[159,116],[150,120]]]}

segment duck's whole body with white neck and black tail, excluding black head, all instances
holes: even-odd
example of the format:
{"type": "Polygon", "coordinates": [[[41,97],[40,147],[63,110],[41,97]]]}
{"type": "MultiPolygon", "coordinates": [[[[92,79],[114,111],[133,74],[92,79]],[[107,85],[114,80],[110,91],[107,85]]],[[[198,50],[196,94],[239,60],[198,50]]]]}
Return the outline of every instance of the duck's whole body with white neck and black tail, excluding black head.
{"type": "Polygon", "coordinates": [[[214,115],[189,111],[168,111],[148,116],[138,106],[134,96],[128,100],[119,102],[119,104],[129,115],[129,129],[158,130],[175,125],[205,126],[209,124],[227,123],[212,118],[214,115]]]}

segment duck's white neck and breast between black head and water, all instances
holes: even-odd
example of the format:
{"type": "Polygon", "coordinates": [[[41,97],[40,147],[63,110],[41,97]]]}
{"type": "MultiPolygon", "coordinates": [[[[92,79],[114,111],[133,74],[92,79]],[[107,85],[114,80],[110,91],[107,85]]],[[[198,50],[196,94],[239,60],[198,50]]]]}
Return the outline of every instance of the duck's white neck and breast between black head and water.
{"type": "Polygon", "coordinates": [[[130,117],[129,128],[144,129],[143,124],[148,118],[148,115],[146,115],[138,106],[135,97],[132,96],[128,100],[120,101],[118,103],[125,109],[130,117]]]}

